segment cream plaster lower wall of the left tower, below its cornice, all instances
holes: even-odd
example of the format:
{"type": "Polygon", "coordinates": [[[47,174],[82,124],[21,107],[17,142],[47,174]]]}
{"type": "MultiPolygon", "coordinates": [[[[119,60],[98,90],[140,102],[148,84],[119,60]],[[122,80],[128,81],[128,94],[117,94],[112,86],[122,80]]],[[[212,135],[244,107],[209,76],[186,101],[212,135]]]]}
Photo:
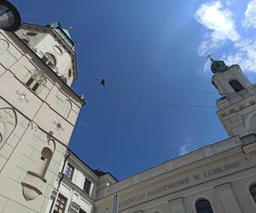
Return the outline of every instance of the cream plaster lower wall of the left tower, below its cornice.
{"type": "Polygon", "coordinates": [[[45,212],[82,101],[18,37],[2,30],[0,85],[0,212],[45,212]],[[46,79],[38,94],[25,84],[34,70],[46,79]],[[70,113],[63,112],[66,100],[70,113]],[[52,156],[37,179],[44,147],[52,156]],[[39,190],[37,196],[27,183],[39,190]]]}

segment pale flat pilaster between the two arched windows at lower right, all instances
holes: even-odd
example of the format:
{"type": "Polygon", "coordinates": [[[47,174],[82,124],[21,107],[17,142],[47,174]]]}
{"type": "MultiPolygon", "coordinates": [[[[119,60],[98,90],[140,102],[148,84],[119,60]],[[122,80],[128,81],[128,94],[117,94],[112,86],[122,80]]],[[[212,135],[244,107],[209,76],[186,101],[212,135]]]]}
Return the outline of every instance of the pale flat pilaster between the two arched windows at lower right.
{"type": "Polygon", "coordinates": [[[237,203],[236,197],[232,191],[230,182],[218,185],[214,188],[218,192],[218,196],[227,213],[242,213],[241,208],[237,203]]]}

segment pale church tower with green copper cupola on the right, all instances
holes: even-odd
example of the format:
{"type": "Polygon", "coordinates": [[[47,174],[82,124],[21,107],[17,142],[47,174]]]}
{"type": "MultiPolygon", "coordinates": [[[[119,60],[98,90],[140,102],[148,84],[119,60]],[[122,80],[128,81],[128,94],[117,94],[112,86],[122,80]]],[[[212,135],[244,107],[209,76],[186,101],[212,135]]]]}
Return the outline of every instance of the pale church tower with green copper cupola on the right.
{"type": "MultiPolygon", "coordinates": [[[[212,60],[212,59],[211,59],[212,60]]],[[[230,136],[254,140],[256,134],[256,85],[238,65],[212,60],[212,83],[222,96],[216,101],[218,117],[230,136]]]]}

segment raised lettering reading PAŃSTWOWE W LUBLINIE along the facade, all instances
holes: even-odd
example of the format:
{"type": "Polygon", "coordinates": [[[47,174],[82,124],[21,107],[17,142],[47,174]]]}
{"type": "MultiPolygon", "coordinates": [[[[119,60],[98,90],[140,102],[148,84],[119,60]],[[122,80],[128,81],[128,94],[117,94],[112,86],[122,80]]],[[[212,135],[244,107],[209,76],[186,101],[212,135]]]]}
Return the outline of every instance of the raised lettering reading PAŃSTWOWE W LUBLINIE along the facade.
{"type": "Polygon", "coordinates": [[[241,166],[241,163],[236,160],[230,164],[224,164],[224,165],[218,166],[216,168],[213,168],[212,170],[205,170],[205,171],[202,171],[201,173],[197,173],[192,176],[177,179],[176,181],[172,181],[166,185],[163,185],[160,187],[154,187],[154,189],[151,191],[148,191],[145,193],[140,193],[137,196],[134,196],[130,199],[125,199],[124,201],[121,201],[119,203],[119,207],[135,203],[139,200],[148,199],[148,198],[155,196],[159,193],[164,193],[164,192],[168,192],[173,189],[176,189],[177,187],[185,187],[186,185],[191,183],[191,181],[201,181],[202,179],[211,178],[212,176],[216,176],[216,175],[223,173],[225,171],[228,171],[228,170],[233,170],[239,166],[241,166]]]}

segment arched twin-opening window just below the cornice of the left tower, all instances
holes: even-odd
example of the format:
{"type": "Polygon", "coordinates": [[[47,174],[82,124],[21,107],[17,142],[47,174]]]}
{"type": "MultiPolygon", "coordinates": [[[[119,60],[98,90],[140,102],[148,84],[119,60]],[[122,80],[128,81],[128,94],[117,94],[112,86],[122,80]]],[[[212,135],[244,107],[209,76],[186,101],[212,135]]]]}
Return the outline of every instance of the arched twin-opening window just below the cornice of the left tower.
{"type": "Polygon", "coordinates": [[[26,86],[37,94],[43,89],[46,80],[41,72],[33,72],[31,77],[26,81],[26,86]]]}

